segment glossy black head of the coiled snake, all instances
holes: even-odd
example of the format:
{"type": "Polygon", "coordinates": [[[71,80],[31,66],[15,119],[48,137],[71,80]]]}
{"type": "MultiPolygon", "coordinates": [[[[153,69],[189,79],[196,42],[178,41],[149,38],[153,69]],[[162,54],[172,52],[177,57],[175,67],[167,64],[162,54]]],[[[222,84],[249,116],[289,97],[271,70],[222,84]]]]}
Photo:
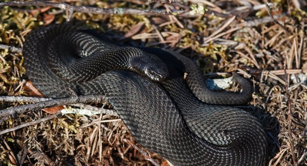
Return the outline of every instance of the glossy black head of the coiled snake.
{"type": "Polygon", "coordinates": [[[157,56],[148,53],[133,58],[131,68],[138,74],[157,82],[164,81],[169,75],[166,64],[157,56]]]}

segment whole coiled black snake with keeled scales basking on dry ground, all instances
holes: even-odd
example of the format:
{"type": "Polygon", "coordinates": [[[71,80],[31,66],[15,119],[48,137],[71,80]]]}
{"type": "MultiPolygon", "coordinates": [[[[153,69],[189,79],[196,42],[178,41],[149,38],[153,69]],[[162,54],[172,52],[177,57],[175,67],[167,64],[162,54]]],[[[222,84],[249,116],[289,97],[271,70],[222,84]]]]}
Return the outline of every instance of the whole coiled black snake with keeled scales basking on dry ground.
{"type": "Polygon", "coordinates": [[[172,165],[266,163],[264,128],[231,106],[251,98],[245,78],[234,76],[242,92],[210,91],[183,55],[112,43],[71,23],[30,32],[23,56],[27,76],[46,97],[103,94],[137,143],[172,165]]]}

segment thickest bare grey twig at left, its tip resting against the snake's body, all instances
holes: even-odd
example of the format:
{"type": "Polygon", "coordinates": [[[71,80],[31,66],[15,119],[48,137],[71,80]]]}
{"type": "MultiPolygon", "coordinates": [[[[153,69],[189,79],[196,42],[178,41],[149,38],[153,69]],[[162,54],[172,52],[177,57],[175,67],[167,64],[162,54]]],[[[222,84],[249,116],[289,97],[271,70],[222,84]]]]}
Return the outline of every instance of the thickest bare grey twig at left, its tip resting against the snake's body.
{"type": "Polygon", "coordinates": [[[42,101],[42,102],[38,102],[34,104],[21,105],[21,106],[1,110],[0,111],[0,117],[1,117],[0,123],[3,123],[5,120],[7,120],[8,116],[14,115],[16,113],[23,113],[23,112],[27,112],[30,110],[43,109],[43,108],[53,107],[57,105],[89,103],[89,102],[97,102],[97,101],[102,101],[102,100],[105,100],[105,96],[101,94],[91,94],[91,95],[85,95],[85,96],[74,96],[74,97],[69,97],[69,98],[42,101]]]}

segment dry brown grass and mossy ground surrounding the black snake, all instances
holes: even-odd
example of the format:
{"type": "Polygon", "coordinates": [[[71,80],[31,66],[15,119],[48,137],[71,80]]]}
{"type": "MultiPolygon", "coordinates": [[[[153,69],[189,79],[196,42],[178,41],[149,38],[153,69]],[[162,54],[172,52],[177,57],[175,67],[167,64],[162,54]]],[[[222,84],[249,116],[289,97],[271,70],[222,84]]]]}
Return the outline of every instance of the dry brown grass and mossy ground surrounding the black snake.
{"type": "MultiPolygon", "coordinates": [[[[77,6],[148,8],[134,0],[65,2],[77,6]]],[[[198,2],[205,3],[206,9],[220,13],[232,11],[236,16],[221,18],[206,14],[180,18],[74,13],[73,19],[87,20],[85,23],[91,27],[112,34],[115,40],[122,39],[126,44],[180,51],[195,60],[205,74],[239,69],[252,75],[255,93],[253,100],[243,108],[255,114],[266,128],[270,145],[268,164],[307,165],[305,1],[273,1],[272,14],[289,34],[272,21],[262,1],[193,0],[188,4],[198,2]],[[254,6],[253,11],[247,10],[249,5],[254,6]],[[285,68],[289,75],[284,74],[285,68]]],[[[163,8],[163,4],[156,7],[163,8]]],[[[22,48],[24,37],[31,29],[64,22],[65,17],[52,8],[2,8],[0,43],[22,48]]],[[[8,49],[0,49],[0,55],[0,95],[25,95],[26,92],[20,90],[25,75],[23,56],[8,49]]],[[[19,104],[26,103],[0,103],[0,109],[19,104]]],[[[10,119],[0,130],[46,115],[43,111],[28,112],[10,119]]],[[[122,141],[133,138],[121,121],[104,121],[116,118],[70,114],[5,134],[0,138],[0,165],[15,165],[14,158],[24,159],[27,165],[150,165],[138,151],[122,141]]],[[[161,157],[152,156],[167,165],[161,157]]]]}

